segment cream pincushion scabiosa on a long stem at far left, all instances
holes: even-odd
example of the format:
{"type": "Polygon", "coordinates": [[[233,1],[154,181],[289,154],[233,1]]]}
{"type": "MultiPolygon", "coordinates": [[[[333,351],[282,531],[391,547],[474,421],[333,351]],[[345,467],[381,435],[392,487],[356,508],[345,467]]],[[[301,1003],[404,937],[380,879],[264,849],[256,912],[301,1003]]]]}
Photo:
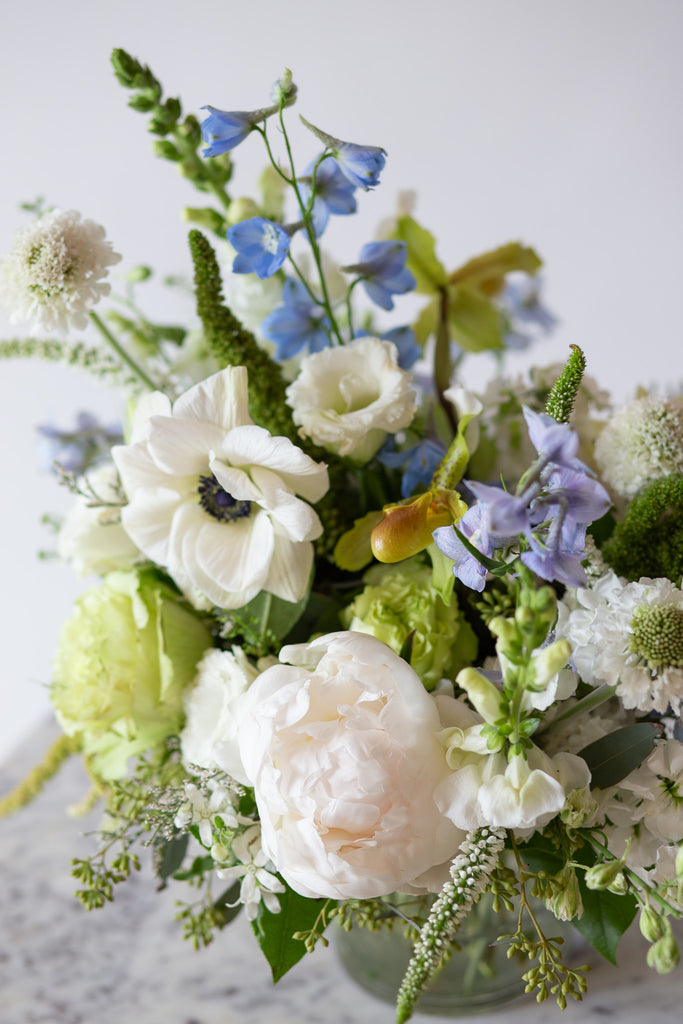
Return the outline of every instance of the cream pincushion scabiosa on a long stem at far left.
{"type": "Polygon", "coordinates": [[[18,232],[0,262],[0,301],[12,324],[82,330],[109,294],[104,278],[120,259],[99,224],[76,210],[52,210],[18,232]]]}

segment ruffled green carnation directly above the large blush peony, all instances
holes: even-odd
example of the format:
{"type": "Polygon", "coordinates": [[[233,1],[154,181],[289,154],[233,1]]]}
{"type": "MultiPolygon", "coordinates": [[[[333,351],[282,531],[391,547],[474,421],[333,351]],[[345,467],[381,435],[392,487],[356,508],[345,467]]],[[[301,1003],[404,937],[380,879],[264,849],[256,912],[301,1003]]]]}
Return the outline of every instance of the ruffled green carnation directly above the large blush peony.
{"type": "Polygon", "coordinates": [[[342,612],[349,630],[370,633],[397,654],[413,633],[411,666],[428,690],[455,679],[471,665],[477,641],[455,597],[445,604],[432,585],[432,570],[407,562],[400,569],[377,565],[364,591],[342,612]]]}

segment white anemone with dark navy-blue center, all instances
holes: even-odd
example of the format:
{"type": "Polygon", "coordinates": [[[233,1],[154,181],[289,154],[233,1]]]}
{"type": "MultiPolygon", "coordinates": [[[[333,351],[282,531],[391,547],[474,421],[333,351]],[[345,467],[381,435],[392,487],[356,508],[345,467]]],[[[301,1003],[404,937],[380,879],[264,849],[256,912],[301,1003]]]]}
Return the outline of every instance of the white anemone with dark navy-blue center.
{"type": "Polygon", "coordinates": [[[173,407],[155,393],[133,443],[112,451],[127,532],[183,590],[222,608],[261,590],[301,600],[323,531],[307,503],[329,486],[325,465],[252,423],[247,399],[245,367],[196,384],[173,407]]]}

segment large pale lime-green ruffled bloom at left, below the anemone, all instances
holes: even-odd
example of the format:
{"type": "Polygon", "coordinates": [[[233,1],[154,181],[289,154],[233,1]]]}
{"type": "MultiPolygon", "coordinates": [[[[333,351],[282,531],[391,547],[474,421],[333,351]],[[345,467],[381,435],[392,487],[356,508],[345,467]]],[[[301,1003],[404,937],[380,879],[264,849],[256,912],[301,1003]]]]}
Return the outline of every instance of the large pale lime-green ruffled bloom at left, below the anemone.
{"type": "Polygon", "coordinates": [[[51,698],[102,778],[177,733],[182,694],[211,634],[150,572],[112,572],[86,591],[61,630],[51,698]]]}

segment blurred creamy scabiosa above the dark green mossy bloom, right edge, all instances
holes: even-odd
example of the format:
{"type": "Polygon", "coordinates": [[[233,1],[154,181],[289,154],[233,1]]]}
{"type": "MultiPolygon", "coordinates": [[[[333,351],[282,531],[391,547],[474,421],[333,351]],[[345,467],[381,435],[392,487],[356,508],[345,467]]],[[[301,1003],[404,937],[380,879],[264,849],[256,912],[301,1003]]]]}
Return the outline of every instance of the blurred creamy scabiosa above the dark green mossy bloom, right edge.
{"type": "Polygon", "coordinates": [[[683,398],[647,395],[618,410],[595,443],[595,461],[623,498],[683,472],[683,398]]]}

